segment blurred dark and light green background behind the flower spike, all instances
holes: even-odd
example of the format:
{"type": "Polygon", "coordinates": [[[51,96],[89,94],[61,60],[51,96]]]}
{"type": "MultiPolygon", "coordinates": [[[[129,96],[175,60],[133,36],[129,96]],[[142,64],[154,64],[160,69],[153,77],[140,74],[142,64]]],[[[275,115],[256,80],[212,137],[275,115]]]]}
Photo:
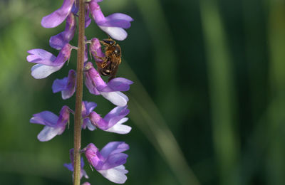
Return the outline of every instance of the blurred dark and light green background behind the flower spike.
{"type": "MultiPolygon", "coordinates": [[[[74,109],[74,96],[53,94],[56,78],[31,77],[32,48],[48,46],[63,31],[41,27],[62,1],[0,1],[0,184],[72,184],[71,127],[38,142],[34,113],[74,109]]],[[[118,43],[118,76],[135,83],[127,135],[83,131],[82,146],[114,140],[130,144],[125,184],[285,184],[285,2],[282,0],[104,0],[107,16],[132,16],[128,38],[118,43]]],[[[88,39],[106,38],[95,23],[88,39]]],[[[77,36],[76,36],[77,37],[77,36]]],[[[71,42],[76,45],[76,37],[71,42]]],[[[84,90],[105,115],[113,105],[84,90]]],[[[91,184],[113,184],[86,165],[91,184]]],[[[86,179],[83,179],[83,182],[86,179]]]]}

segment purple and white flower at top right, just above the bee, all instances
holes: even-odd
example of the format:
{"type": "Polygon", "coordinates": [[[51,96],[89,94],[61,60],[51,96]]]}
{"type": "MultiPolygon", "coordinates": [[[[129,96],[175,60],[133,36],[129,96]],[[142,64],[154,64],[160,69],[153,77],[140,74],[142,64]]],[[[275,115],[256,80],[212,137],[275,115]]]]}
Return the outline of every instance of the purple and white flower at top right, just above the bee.
{"type": "Polygon", "coordinates": [[[98,5],[98,2],[102,0],[91,0],[90,12],[94,18],[95,23],[110,37],[118,41],[123,41],[127,38],[128,33],[124,28],[130,28],[130,21],[133,21],[133,18],[126,14],[115,13],[110,16],[105,17],[98,5]]]}

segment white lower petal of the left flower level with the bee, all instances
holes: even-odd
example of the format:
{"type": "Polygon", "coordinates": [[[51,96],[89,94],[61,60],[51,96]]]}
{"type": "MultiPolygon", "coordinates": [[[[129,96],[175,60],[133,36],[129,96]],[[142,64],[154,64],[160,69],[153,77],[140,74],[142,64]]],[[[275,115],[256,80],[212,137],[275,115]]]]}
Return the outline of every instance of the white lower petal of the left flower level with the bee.
{"type": "Polygon", "coordinates": [[[33,78],[36,78],[36,79],[46,78],[52,73],[60,70],[62,67],[63,67],[63,64],[59,66],[36,64],[36,65],[33,65],[33,67],[31,68],[31,75],[33,76],[33,78]]]}

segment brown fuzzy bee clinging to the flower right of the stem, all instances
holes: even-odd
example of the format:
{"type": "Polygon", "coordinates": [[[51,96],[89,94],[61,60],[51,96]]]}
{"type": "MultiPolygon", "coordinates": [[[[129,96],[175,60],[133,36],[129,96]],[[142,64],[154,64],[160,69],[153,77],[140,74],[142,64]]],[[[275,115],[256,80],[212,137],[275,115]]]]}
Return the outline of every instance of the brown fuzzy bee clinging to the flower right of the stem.
{"type": "Polygon", "coordinates": [[[105,57],[100,58],[103,60],[102,63],[96,62],[97,70],[101,75],[109,76],[108,81],[110,81],[115,78],[118,65],[121,63],[121,49],[118,43],[116,44],[110,37],[103,39],[100,43],[105,46],[105,57]]]}

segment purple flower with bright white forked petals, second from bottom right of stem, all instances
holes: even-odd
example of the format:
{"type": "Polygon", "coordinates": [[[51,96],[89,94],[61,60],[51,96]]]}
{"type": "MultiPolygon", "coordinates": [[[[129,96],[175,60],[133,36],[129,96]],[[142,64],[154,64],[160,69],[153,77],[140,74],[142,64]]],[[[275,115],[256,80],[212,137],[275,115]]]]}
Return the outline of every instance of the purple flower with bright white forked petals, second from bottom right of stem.
{"type": "Polygon", "coordinates": [[[128,134],[132,128],[128,125],[123,125],[123,123],[128,121],[128,117],[125,116],[129,112],[130,110],[128,110],[127,106],[115,107],[104,118],[96,112],[90,112],[89,118],[93,125],[106,132],[128,134]]]}

